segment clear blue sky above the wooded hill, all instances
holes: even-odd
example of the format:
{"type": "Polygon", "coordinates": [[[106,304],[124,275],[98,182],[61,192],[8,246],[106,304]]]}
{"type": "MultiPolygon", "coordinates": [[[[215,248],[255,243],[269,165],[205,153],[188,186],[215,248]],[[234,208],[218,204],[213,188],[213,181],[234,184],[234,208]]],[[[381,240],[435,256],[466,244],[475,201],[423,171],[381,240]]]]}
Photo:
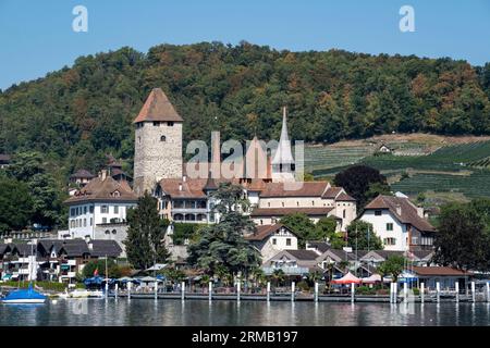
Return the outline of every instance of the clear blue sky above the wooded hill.
{"type": "Polygon", "coordinates": [[[278,49],[452,57],[490,61],[486,0],[0,0],[0,88],[42,77],[78,55],[131,46],[247,40],[278,49]],[[88,9],[88,33],[72,10],[88,9]],[[402,5],[415,33],[399,29],[402,5]]]}

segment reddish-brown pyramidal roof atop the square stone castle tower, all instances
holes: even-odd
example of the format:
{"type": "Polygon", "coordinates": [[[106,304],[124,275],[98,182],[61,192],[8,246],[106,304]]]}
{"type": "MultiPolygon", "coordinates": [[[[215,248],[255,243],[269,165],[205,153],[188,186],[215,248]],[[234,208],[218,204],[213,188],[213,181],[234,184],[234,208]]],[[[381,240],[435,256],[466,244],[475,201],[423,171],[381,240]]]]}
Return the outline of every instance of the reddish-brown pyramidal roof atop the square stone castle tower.
{"type": "Polygon", "coordinates": [[[146,121],[183,122],[161,88],[154,88],[133,123],[146,121]]]}

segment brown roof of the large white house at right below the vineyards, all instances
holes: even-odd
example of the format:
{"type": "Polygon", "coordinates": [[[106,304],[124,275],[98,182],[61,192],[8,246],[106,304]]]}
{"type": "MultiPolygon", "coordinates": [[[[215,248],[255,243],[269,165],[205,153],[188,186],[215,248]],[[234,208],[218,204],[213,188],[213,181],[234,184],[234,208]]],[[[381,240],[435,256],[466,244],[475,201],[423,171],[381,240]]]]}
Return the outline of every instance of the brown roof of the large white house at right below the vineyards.
{"type": "Polygon", "coordinates": [[[417,207],[415,207],[408,198],[392,197],[380,195],[371,200],[365,208],[365,210],[380,210],[388,209],[400,222],[404,224],[411,224],[415,228],[421,232],[434,232],[436,228],[424,217],[417,213],[417,207]],[[401,214],[397,213],[397,208],[401,209],[401,214]]]}

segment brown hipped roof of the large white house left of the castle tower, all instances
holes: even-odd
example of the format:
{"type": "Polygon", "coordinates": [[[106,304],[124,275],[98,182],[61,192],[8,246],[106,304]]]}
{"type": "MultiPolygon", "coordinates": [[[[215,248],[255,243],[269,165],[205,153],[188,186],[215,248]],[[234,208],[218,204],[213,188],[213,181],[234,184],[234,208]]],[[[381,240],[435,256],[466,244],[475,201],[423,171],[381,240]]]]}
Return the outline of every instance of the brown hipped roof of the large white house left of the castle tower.
{"type": "Polygon", "coordinates": [[[110,175],[105,179],[93,178],[84,188],[77,190],[74,196],[64,202],[76,203],[81,201],[130,201],[136,202],[137,197],[125,182],[117,182],[110,175]]]}

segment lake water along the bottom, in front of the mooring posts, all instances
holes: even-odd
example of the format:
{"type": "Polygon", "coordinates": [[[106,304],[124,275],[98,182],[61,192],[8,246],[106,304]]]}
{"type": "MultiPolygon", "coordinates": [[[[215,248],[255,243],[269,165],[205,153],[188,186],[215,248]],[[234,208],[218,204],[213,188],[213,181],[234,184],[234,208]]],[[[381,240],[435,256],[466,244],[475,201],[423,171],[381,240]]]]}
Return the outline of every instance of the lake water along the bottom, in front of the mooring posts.
{"type": "Polygon", "coordinates": [[[489,303],[264,302],[69,299],[0,304],[0,325],[489,325],[489,303]]]}

